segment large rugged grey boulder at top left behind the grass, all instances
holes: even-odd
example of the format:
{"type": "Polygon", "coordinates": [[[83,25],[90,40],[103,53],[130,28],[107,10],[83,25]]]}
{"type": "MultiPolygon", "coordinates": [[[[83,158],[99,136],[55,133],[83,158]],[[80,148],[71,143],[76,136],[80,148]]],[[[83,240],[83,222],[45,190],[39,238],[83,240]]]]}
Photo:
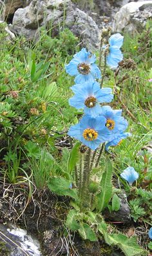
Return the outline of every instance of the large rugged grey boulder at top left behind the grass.
{"type": "Polygon", "coordinates": [[[63,27],[68,27],[81,38],[82,45],[91,49],[96,48],[99,41],[99,28],[95,21],[70,0],[32,0],[29,6],[16,10],[10,29],[33,39],[39,35],[41,26],[50,26],[53,36],[57,36],[63,27]]]}

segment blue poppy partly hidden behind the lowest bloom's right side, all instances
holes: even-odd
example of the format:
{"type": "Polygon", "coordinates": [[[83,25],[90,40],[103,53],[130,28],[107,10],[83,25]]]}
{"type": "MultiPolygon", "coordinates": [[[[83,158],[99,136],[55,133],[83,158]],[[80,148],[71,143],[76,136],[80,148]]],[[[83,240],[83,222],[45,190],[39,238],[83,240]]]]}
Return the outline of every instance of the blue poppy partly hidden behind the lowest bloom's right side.
{"type": "Polygon", "coordinates": [[[106,118],[106,128],[117,138],[128,127],[128,122],[122,115],[122,110],[113,110],[109,106],[103,106],[101,115],[106,118]]]}

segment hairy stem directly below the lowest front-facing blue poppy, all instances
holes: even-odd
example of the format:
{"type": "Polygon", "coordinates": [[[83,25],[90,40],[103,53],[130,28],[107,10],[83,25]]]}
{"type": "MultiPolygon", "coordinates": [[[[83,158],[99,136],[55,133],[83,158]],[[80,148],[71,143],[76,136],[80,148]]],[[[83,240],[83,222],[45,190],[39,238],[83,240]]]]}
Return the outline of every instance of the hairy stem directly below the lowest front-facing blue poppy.
{"type": "Polygon", "coordinates": [[[82,187],[81,187],[81,204],[83,205],[84,202],[87,202],[87,192],[88,192],[88,184],[90,181],[90,156],[91,156],[91,149],[88,149],[86,156],[84,158],[84,170],[83,170],[83,177],[82,177],[82,187]]]}

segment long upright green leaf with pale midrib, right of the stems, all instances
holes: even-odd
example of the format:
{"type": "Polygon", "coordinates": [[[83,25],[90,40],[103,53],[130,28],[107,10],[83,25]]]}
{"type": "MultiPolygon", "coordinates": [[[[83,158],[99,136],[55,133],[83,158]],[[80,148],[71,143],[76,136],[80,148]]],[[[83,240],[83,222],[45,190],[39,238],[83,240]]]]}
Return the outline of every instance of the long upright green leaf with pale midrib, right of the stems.
{"type": "Polygon", "coordinates": [[[112,196],[112,183],[111,178],[113,175],[113,166],[109,158],[106,158],[106,167],[104,174],[102,175],[102,180],[100,182],[101,192],[97,195],[97,205],[98,211],[102,211],[106,206],[112,196]]]}

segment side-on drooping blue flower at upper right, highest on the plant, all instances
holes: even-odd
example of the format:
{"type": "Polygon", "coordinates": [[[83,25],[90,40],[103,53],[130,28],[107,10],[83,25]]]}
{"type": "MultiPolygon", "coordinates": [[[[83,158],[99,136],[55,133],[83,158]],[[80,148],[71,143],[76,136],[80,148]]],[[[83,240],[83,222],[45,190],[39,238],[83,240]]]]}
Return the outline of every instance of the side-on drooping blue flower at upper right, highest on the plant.
{"type": "Polygon", "coordinates": [[[118,63],[122,61],[123,55],[120,50],[122,47],[124,37],[120,33],[114,34],[109,37],[109,54],[107,56],[106,62],[107,65],[113,69],[116,69],[118,63]]]}

